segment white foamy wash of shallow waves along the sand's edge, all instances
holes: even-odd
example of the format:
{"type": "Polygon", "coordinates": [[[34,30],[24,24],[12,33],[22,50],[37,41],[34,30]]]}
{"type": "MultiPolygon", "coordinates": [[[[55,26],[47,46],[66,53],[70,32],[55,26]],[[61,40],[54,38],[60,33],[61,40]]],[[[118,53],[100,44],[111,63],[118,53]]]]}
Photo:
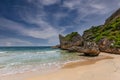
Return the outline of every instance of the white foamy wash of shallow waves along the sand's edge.
{"type": "Polygon", "coordinates": [[[17,73],[31,72],[31,71],[40,71],[48,72],[50,70],[56,70],[60,68],[60,63],[43,63],[40,65],[24,65],[19,67],[11,67],[17,63],[11,63],[9,66],[6,66],[3,69],[0,69],[0,76],[12,75],[17,73]]]}

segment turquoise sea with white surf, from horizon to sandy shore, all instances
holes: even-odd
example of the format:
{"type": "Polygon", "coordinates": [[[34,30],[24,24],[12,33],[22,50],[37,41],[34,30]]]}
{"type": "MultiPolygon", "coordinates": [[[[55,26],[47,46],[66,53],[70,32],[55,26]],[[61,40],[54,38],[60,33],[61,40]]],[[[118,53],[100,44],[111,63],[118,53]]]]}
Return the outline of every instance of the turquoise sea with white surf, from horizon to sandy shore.
{"type": "Polygon", "coordinates": [[[80,56],[51,47],[0,47],[0,76],[26,71],[44,72],[80,60],[80,56]]]}

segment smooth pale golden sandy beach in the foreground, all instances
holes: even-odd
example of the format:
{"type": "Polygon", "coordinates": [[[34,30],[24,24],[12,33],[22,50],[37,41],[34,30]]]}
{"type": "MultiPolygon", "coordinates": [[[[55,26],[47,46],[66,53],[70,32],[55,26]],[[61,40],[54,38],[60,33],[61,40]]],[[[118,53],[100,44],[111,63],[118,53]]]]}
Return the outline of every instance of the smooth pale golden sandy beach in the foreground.
{"type": "Polygon", "coordinates": [[[100,55],[105,57],[71,62],[60,70],[46,74],[28,72],[0,77],[0,80],[120,80],[120,55],[100,55]]]}

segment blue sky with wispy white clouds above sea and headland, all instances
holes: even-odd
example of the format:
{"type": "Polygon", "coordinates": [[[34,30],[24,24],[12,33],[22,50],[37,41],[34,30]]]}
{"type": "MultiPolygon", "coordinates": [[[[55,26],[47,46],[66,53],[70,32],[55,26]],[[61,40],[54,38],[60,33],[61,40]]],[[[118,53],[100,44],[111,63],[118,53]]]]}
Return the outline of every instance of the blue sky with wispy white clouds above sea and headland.
{"type": "Polygon", "coordinates": [[[0,0],[0,46],[51,46],[83,34],[120,8],[120,0],[0,0]]]}

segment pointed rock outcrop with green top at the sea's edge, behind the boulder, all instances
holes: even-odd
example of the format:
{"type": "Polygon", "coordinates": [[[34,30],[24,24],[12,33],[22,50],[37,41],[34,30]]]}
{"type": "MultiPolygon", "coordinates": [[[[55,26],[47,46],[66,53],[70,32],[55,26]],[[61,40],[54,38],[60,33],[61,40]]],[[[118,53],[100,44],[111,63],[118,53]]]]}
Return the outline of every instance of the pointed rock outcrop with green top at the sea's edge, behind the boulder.
{"type": "Polygon", "coordinates": [[[77,32],[72,32],[71,34],[68,34],[65,37],[59,35],[59,40],[61,49],[68,49],[72,46],[83,45],[83,39],[77,32]]]}

